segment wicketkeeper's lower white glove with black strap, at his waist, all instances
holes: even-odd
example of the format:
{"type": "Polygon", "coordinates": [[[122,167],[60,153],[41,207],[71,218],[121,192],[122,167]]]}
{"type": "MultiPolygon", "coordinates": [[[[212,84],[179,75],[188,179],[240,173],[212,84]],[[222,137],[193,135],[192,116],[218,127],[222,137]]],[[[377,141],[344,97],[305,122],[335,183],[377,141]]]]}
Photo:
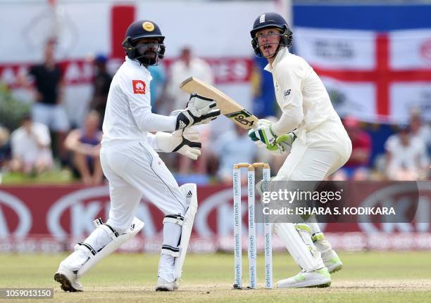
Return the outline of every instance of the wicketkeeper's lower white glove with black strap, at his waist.
{"type": "Polygon", "coordinates": [[[202,144],[199,142],[199,133],[196,129],[181,129],[172,134],[158,131],[156,133],[156,145],[161,152],[176,152],[193,160],[201,155],[202,144]]]}

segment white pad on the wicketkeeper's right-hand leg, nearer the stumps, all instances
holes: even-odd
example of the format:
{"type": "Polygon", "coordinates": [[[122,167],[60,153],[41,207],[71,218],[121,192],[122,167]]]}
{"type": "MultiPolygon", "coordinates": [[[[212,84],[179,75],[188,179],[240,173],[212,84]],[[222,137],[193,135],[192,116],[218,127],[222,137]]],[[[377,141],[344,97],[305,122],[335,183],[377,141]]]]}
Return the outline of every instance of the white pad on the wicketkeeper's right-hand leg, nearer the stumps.
{"type": "Polygon", "coordinates": [[[189,247],[190,235],[192,234],[194,216],[197,212],[197,189],[195,183],[186,183],[180,186],[180,191],[187,197],[187,212],[184,215],[184,221],[181,229],[180,256],[175,258],[175,278],[180,279],[182,275],[182,266],[184,264],[187,248],[189,247]]]}

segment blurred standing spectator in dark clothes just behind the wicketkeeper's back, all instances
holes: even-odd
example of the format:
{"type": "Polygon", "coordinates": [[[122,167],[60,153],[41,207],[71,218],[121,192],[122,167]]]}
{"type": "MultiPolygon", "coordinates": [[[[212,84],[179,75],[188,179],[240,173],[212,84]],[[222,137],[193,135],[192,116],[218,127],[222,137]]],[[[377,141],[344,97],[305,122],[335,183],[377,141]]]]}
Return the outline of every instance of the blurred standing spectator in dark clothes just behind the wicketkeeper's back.
{"type": "Polygon", "coordinates": [[[94,79],[93,79],[93,96],[90,102],[90,110],[96,110],[101,117],[101,124],[104,122],[106,101],[108,101],[109,86],[111,86],[112,76],[106,71],[106,62],[108,58],[104,55],[98,55],[94,58],[94,79]]]}

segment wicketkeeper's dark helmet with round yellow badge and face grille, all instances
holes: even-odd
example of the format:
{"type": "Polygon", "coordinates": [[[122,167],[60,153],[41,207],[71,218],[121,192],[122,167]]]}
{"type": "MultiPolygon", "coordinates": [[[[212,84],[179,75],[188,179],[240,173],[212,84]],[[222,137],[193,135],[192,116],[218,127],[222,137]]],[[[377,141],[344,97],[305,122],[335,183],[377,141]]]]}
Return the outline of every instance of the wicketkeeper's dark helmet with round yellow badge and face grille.
{"type": "Polygon", "coordinates": [[[149,20],[138,20],[133,22],[125,33],[123,49],[132,60],[137,60],[143,65],[157,65],[158,59],[165,56],[165,36],[161,34],[160,27],[149,20]],[[139,44],[142,39],[157,39],[158,43],[139,44]]]}

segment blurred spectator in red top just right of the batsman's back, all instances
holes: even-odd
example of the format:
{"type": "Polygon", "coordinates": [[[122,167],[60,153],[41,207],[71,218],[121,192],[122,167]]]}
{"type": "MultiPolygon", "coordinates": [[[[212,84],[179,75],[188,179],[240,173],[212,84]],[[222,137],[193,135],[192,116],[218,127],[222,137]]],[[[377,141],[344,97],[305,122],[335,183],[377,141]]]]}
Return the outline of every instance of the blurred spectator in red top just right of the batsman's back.
{"type": "Polygon", "coordinates": [[[342,169],[348,179],[363,179],[370,161],[371,136],[359,127],[359,121],[355,117],[345,117],[343,122],[351,140],[352,150],[349,160],[342,169]]]}

